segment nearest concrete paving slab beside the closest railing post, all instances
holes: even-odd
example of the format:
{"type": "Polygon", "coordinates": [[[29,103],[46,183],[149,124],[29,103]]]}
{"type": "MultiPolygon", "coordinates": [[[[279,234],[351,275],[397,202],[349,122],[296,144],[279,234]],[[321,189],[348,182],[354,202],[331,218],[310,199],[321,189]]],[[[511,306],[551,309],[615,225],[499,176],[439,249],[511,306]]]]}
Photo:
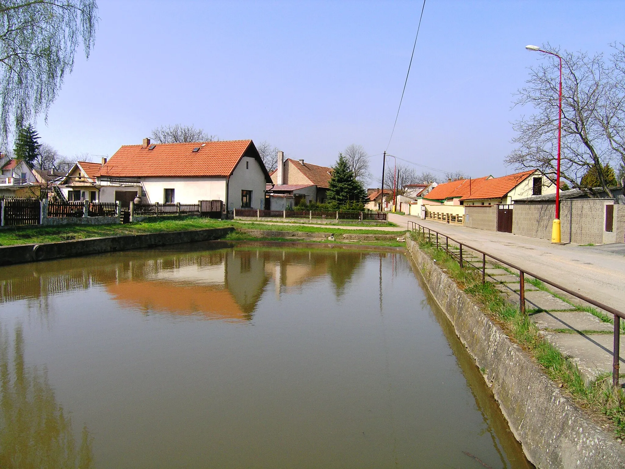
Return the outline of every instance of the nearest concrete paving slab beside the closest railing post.
{"type": "MultiPolygon", "coordinates": [[[[543,332],[543,335],[564,356],[576,363],[588,383],[599,373],[612,373],[612,335],[583,335],[543,332]]],[[[621,336],[621,342],[625,339],[621,336]]],[[[625,347],[621,347],[619,361],[621,369],[625,364],[625,347]]]]}

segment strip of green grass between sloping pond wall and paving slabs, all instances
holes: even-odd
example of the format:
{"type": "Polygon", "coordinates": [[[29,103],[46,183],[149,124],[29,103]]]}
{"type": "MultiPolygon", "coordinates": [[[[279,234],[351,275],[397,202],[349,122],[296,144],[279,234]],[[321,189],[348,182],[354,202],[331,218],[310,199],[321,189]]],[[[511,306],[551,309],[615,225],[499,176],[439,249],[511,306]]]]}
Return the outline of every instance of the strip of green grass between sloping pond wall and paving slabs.
{"type": "MultiPolygon", "coordinates": [[[[427,242],[421,233],[413,232],[411,236],[419,248],[436,260],[436,264],[456,281],[459,288],[471,295],[482,306],[482,310],[502,327],[512,341],[524,348],[577,405],[597,416],[607,416],[616,435],[620,438],[625,436],[625,394],[622,389],[614,389],[609,373],[586,385],[577,367],[542,338],[539,329],[529,318],[532,311],[522,315],[517,306],[509,305],[502,299],[491,282],[482,285],[481,273],[475,268],[460,268],[454,258],[427,242]]],[[[532,282],[532,285],[540,288],[540,284],[532,282]]]]}

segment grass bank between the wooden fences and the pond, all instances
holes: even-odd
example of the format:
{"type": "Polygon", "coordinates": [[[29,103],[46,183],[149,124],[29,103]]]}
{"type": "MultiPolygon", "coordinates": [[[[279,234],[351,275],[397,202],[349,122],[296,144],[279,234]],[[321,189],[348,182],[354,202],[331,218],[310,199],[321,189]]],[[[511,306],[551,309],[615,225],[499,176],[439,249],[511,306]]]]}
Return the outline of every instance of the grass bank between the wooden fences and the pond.
{"type": "MultiPolygon", "coordinates": [[[[304,233],[334,233],[342,235],[347,233],[367,233],[371,235],[388,235],[388,231],[377,229],[340,229],[329,226],[304,226],[296,224],[265,224],[265,223],[241,223],[232,220],[218,220],[212,218],[166,218],[154,217],[154,219],[129,224],[103,224],[103,225],[64,225],[64,226],[18,226],[0,230],[0,246],[15,246],[27,244],[55,243],[58,241],[84,240],[87,238],[101,238],[104,236],[143,235],[145,233],[164,233],[172,231],[186,231],[191,229],[225,228],[232,226],[239,229],[261,229],[271,231],[302,231],[304,233]]],[[[241,233],[242,235],[242,233],[241,233]]],[[[398,233],[397,236],[402,235],[398,233]]],[[[242,238],[237,238],[242,239],[242,238]]],[[[249,239],[249,238],[245,238],[249,239]]],[[[264,238],[267,239],[267,238],[264,238]]],[[[293,241],[291,239],[291,241],[293,241]]],[[[382,241],[380,241],[382,243],[382,241]]],[[[375,244],[379,244],[376,243],[375,244]]]]}

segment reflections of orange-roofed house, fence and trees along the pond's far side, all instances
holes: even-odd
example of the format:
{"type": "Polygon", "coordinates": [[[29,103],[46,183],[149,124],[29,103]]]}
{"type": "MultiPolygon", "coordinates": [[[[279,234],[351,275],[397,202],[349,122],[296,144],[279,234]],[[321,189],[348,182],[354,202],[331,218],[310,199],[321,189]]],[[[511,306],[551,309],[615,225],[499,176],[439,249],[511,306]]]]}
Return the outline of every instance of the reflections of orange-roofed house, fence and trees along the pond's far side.
{"type": "Polygon", "coordinates": [[[144,314],[172,314],[249,321],[267,285],[281,291],[304,288],[327,276],[337,296],[365,258],[385,253],[227,249],[201,252],[131,251],[4,268],[0,302],[39,301],[69,290],[104,285],[122,307],[144,314]]]}

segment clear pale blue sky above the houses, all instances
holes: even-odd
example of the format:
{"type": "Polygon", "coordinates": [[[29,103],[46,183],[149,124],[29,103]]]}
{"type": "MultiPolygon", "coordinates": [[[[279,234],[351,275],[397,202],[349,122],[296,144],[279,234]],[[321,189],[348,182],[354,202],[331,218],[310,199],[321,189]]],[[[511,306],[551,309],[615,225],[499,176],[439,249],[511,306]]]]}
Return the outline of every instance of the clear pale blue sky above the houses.
{"type": "MultiPolygon", "coordinates": [[[[111,156],[162,124],[267,140],[330,165],[351,143],[387,148],[421,1],[110,1],[88,61],[77,55],[42,141],[111,156]]],[[[514,172],[511,109],[527,44],[609,51],[622,1],[427,0],[389,153],[470,176],[514,172]]],[[[381,156],[371,169],[381,173],[381,156]]],[[[375,183],[372,183],[375,185],[375,183]]]]}

